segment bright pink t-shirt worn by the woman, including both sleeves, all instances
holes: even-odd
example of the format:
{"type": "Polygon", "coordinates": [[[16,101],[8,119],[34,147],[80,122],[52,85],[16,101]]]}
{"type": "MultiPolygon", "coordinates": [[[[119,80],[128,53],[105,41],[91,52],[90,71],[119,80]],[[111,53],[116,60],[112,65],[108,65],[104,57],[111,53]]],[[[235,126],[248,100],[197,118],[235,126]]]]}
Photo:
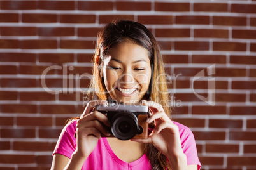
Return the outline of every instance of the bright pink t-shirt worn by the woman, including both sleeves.
{"type": "MultiPolygon", "coordinates": [[[[196,142],[192,131],[190,131],[189,128],[178,122],[174,122],[174,124],[178,126],[180,131],[181,145],[183,148],[183,152],[185,153],[185,155],[187,155],[187,164],[197,164],[198,169],[200,169],[201,164],[197,156],[196,142]]],[[[60,134],[53,155],[61,154],[71,159],[71,155],[76,149],[76,138],[74,137],[75,131],[76,121],[69,122],[60,134]]],[[[123,160],[119,159],[117,155],[115,155],[110,145],[108,144],[108,140],[106,138],[101,138],[101,140],[98,141],[93,152],[89,155],[87,160],[85,160],[82,170],[83,169],[146,170],[151,169],[151,166],[148,156],[146,154],[144,154],[142,157],[140,157],[138,160],[135,160],[134,162],[124,162],[123,160]]]]}

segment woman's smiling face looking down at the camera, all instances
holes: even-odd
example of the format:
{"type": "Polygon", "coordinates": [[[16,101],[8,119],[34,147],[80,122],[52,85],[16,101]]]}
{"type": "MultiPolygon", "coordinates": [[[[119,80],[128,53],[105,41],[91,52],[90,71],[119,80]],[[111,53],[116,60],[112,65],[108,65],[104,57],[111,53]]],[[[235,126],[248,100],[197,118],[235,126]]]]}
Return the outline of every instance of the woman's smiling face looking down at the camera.
{"type": "Polygon", "coordinates": [[[129,40],[114,46],[104,60],[103,77],[111,98],[118,102],[138,103],[151,79],[148,51],[129,40]]]}

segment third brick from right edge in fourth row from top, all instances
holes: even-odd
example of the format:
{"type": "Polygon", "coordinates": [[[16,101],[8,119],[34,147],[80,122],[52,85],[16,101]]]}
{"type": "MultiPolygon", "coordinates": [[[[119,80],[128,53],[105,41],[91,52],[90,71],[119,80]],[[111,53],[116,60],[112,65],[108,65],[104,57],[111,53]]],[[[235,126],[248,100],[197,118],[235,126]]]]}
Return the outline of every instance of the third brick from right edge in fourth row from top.
{"type": "Polygon", "coordinates": [[[181,51],[208,51],[209,42],[203,41],[175,41],[174,49],[181,51]]]}

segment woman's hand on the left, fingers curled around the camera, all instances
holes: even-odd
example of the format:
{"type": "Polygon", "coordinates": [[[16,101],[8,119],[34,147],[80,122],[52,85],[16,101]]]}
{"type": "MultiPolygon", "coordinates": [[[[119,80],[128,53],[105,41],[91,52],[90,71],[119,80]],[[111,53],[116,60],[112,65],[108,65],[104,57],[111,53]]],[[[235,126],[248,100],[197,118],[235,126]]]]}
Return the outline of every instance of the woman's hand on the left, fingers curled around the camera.
{"type": "Polygon", "coordinates": [[[106,115],[94,110],[97,105],[103,105],[107,101],[94,100],[87,104],[83,114],[76,124],[76,151],[74,154],[80,158],[87,158],[94,150],[101,134],[110,136],[110,133],[104,128],[111,126],[106,115]]]}

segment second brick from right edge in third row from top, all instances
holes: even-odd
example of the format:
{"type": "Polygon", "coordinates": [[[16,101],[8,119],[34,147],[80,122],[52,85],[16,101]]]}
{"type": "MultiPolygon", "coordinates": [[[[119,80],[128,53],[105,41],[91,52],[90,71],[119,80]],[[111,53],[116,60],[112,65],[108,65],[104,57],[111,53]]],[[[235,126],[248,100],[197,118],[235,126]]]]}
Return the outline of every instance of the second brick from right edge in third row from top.
{"type": "Polygon", "coordinates": [[[194,29],[194,37],[225,38],[229,37],[229,30],[224,29],[194,29]]]}

